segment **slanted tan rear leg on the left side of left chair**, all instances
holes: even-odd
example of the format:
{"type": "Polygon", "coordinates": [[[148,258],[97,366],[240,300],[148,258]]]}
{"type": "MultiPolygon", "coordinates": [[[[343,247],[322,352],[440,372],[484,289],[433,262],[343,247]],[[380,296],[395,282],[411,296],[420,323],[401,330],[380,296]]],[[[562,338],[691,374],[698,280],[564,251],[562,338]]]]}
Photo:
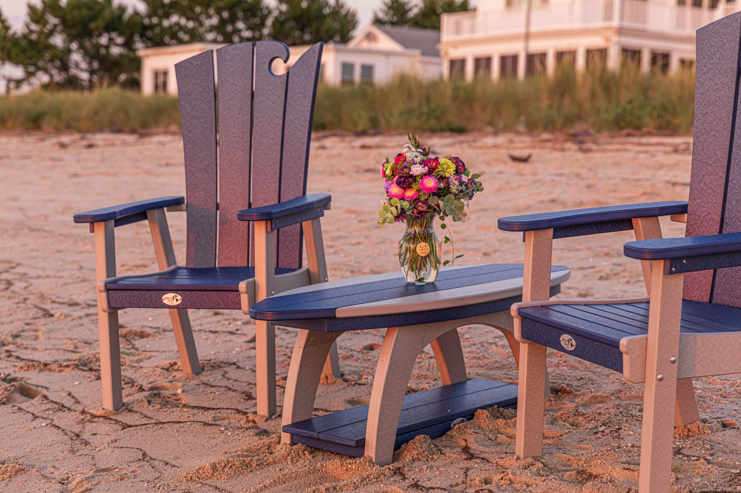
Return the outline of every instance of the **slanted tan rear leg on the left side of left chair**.
{"type": "MultiPolygon", "coordinates": [[[[152,233],[152,243],[157,257],[159,269],[177,265],[173,240],[170,238],[170,228],[167,227],[167,215],[165,209],[153,209],[147,211],[147,221],[152,233]]],[[[187,309],[170,308],[170,321],[173,323],[175,342],[178,346],[180,366],[183,372],[198,375],[201,372],[201,363],[198,360],[196,341],[193,340],[193,330],[190,329],[190,318],[187,309]]]]}

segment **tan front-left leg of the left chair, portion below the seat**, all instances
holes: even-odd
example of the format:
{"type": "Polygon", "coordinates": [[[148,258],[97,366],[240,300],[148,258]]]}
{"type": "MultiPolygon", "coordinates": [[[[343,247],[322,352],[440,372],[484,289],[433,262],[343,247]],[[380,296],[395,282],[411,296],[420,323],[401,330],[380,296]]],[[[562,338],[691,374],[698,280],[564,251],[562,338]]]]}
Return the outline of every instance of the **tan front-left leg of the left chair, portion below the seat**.
{"type": "Polygon", "coordinates": [[[118,411],[124,406],[121,388],[121,347],[119,345],[119,312],[98,309],[98,338],[100,341],[100,381],[103,407],[118,411]]]}

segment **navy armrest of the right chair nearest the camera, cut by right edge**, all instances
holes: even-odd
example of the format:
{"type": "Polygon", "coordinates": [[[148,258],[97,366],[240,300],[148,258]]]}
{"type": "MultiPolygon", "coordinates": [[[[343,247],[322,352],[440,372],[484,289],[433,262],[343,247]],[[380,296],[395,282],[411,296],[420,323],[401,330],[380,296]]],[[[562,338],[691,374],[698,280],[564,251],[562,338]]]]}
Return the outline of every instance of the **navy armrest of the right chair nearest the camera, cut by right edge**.
{"type": "Polygon", "coordinates": [[[666,274],[739,266],[741,232],[629,241],[623,253],[639,260],[665,260],[666,274]]]}

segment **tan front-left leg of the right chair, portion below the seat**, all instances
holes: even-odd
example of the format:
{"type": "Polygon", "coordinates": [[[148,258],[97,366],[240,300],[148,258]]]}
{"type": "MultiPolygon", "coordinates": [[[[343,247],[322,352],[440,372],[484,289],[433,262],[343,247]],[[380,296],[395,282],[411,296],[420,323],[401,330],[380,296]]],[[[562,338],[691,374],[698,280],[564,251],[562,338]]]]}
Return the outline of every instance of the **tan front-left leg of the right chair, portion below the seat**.
{"type": "Polygon", "coordinates": [[[538,457],[543,449],[545,412],[545,358],[548,348],[536,343],[519,345],[517,428],[515,453],[519,459],[538,457]]]}

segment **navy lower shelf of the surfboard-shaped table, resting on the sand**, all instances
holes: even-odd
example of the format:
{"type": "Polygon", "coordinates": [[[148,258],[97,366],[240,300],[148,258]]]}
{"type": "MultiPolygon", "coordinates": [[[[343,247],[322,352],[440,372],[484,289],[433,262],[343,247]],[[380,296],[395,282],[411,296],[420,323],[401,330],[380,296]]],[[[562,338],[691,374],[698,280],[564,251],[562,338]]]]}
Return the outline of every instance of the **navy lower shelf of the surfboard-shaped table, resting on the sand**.
{"type": "MultiPolygon", "coordinates": [[[[491,380],[468,380],[405,395],[393,449],[417,435],[442,437],[454,421],[471,419],[476,409],[516,404],[516,385],[491,380]]],[[[367,421],[366,404],[297,421],[283,426],[283,431],[292,435],[293,443],[362,457],[367,421]]]]}

